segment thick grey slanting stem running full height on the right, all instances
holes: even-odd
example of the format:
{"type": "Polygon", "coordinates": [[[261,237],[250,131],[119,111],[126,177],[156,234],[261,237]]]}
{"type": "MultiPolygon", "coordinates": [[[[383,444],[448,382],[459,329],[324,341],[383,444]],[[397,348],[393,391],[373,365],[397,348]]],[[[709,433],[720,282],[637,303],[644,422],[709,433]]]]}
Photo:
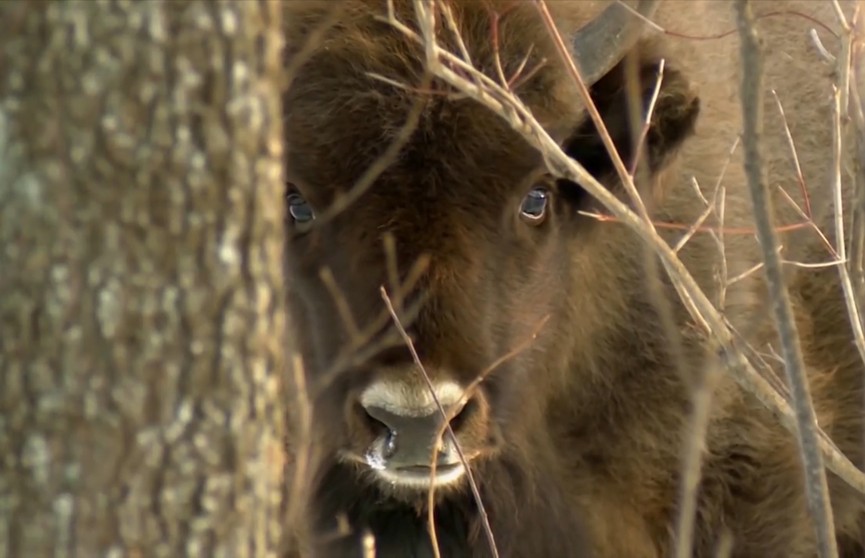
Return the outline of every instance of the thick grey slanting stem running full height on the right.
{"type": "Polygon", "coordinates": [[[763,175],[763,161],[760,153],[763,53],[752,21],[749,0],[736,0],[736,15],[741,37],[742,147],[745,152],[745,172],[753,200],[757,233],[763,251],[769,297],[775,311],[775,321],[781,338],[784,368],[787,371],[787,379],[795,402],[799,447],[805,469],[804,481],[808,510],[815,523],[814,529],[817,535],[819,555],[822,558],[835,558],[838,556],[838,548],[835,540],[832,507],[829,504],[826,470],[823,465],[823,457],[820,455],[815,429],[817,416],[811,403],[808,378],[805,373],[802,349],[799,345],[799,333],[790,306],[789,295],[784,286],[781,262],[775,250],[778,242],[775,230],[772,228],[771,200],[763,175]]]}

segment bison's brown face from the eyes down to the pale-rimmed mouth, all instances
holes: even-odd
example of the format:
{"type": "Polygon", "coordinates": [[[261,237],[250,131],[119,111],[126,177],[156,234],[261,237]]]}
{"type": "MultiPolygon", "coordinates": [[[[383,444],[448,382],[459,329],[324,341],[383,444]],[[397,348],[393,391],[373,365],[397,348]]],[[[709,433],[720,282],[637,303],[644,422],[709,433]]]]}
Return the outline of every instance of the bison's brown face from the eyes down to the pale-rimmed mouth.
{"type": "Polygon", "coordinates": [[[327,186],[298,178],[288,194],[290,303],[318,389],[317,426],[332,429],[322,441],[402,495],[459,485],[458,448],[470,462],[493,457],[509,423],[542,404],[544,355],[563,341],[546,332],[562,323],[578,226],[567,186],[527,146],[477,161],[436,162],[427,149],[412,142],[321,226],[318,215],[338,203],[327,186]],[[446,418],[455,439],[442,432],[446,418]]]}

